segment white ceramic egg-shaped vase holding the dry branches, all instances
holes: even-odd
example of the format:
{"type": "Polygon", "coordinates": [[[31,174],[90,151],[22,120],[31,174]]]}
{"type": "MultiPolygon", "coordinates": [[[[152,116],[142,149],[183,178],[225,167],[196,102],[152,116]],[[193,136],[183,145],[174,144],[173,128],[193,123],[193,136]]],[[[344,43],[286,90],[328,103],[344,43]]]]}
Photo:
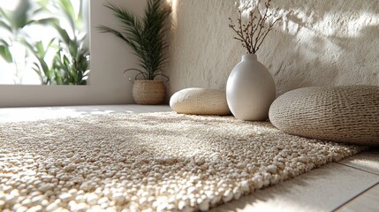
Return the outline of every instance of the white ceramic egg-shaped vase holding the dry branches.
{"type": "Polygon", "coordinates": [[[226,100],[231,113],[246,121],[266,120],[276,94],[274,79],[254,54],[242,56],[226,83],[226,100]]]}

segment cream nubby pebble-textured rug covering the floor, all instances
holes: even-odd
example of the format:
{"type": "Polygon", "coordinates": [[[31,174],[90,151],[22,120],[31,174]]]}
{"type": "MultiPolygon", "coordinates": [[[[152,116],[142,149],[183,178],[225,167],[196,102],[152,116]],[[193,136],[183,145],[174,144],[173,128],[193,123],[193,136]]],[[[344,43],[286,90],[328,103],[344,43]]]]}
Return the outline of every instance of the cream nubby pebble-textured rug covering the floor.
{"type": "Polygon", "coordinates": [[[0,210],[206,211],[362,149],[172,112],[6,123],[0,210]]]}

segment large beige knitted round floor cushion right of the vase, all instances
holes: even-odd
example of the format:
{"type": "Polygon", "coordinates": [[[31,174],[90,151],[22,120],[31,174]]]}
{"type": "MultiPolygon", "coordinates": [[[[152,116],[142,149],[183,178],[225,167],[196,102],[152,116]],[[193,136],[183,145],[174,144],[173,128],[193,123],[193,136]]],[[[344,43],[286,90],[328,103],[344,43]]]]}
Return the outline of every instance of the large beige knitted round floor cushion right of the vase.
{"type": "Polygon", "coordinates": [[[285,133],[319,140],[379,145],[379,87],[304,87],[281,95],[269,109],[285,133]]]}

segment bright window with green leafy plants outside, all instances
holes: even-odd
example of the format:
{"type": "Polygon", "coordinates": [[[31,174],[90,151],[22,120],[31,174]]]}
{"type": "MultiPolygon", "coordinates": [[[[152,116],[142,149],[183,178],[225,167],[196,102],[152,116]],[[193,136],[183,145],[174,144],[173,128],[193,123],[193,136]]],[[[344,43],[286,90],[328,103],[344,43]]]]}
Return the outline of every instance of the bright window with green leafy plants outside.
{"type": "Polygon", "coordinates": [[[1,0],[0,84],[87,85],[88,0],[1,0]]]}

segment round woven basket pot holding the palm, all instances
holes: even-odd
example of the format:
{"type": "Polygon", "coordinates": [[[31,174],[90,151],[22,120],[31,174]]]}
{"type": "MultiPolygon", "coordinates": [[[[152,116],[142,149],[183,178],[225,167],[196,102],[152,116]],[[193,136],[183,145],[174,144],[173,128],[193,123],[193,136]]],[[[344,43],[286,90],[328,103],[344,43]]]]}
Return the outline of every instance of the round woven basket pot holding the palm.
{"type": "Polygon", "coordinates": [[[133,81],[132,95],[137,104],[160,104],[164,101],[165,93],[162,80],[133,81]]]}

